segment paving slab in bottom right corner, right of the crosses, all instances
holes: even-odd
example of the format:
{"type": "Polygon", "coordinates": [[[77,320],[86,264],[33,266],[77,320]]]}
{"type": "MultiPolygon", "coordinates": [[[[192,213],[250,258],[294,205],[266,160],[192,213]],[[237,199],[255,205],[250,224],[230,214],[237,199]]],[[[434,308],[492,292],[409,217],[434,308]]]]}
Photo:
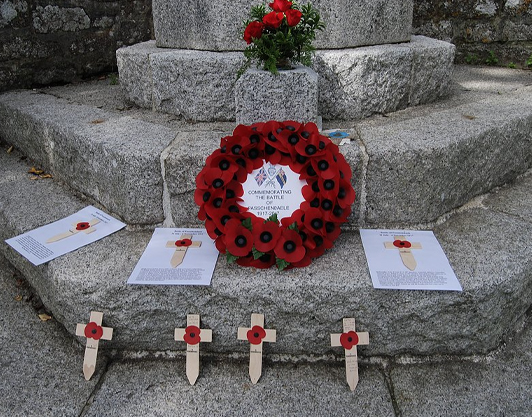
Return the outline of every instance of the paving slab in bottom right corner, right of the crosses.
{"type": "Polygon", "coordinates": [[[399,366],[391,371],[403,417],[515,416],[532,411],[532,326],[508,349],[476,362],[399,366]]]}

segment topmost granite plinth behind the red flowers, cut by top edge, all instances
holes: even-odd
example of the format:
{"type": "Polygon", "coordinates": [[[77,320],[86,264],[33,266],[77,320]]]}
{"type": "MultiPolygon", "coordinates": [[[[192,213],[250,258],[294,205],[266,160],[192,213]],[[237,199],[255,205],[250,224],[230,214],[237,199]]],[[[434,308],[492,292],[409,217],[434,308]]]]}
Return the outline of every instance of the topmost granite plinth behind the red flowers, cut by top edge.
{"type": "MultiPolygon", "coordinates": [[[[267,4],[269,1],[264,1],[267,4]]],[[[307,0],[301,4],[308,3],[307,0]]],[[[232,2],[154,0],[153,23],[158,47],[206,51],[243,50],[243,21],[261,0],[232,2]]],[[[326,30],[319,49],[406,42],[412,29],[413,0],[314,0],[326,30]]]]}

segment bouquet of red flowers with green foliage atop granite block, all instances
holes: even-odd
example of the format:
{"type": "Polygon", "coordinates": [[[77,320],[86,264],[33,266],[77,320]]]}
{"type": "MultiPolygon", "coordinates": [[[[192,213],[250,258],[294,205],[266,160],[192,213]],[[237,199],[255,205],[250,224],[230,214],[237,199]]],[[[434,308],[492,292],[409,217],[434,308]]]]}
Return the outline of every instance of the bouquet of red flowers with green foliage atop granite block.
{"type": "Polygon", "coordinates": [[[253,62],[277,74],[278,68],[290,68],[291,62],[310,65],[315,48],[316,31],[325,25],[311,4],[299,8],[287,0],[274,0],[266,6],[253,6],[251,19],[245,22],[243,39],[249,45],[244,50],[246,63],[239,75],[253,62]]]}

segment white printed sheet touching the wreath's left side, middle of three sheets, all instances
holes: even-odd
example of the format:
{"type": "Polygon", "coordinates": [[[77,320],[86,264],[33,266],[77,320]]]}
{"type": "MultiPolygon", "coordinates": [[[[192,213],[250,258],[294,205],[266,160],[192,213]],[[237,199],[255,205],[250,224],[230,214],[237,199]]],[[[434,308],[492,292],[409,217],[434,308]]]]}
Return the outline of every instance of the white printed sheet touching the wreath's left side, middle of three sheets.
{"type": "Polygon", "coordinates": [[[205,229],[157,228],[127,282],[142,285],[210,285],[218,253],[205,229]],[[194,244],[186,247],[182,263],[173,267],[171,261],[178,247],[168,246],[181,240],[183,235],[192,235],[190,240],[201,242],[201,246],[194,244]]]}

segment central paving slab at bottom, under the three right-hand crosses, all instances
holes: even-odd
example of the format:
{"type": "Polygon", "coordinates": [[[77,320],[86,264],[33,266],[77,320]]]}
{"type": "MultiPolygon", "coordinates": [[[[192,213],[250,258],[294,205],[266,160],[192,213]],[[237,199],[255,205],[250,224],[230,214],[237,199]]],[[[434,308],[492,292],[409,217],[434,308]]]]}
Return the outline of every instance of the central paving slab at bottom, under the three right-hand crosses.
{"type": "Polygon", "coordinates": [[[117,363],[84,417],[394,415],[378,370],[361,367],[359,385],[351,392],[342,365],[264,363],[253,385],[245,360],[203,361],[191,386],[183,359],[117,363]]]}

